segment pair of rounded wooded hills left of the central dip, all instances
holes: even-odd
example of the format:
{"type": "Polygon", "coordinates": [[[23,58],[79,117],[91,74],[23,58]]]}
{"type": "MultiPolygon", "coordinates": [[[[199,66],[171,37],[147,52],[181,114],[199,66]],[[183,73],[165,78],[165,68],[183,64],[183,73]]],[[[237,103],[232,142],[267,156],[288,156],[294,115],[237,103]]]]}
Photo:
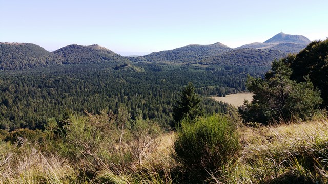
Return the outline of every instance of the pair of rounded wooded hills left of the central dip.
{"type": "Polygon", "coordinates": [[[49,52],[32,43],[0,43],[0,70],[21,70],[61,64],[130,62],[127,58],[99,45],[69,45],[49,52]]]}

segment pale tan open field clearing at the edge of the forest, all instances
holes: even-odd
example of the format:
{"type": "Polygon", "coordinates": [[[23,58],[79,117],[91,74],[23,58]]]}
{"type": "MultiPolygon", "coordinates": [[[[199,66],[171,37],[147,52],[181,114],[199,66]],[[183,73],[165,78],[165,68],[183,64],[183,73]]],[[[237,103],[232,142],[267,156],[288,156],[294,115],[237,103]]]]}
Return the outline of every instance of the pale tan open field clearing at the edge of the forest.
{"type": "Polygon", "coordinates": [[[227,102],[238,108],[238,106],[244,104],[244,100],[248,100],[249,102],[251,102],[253,100],[253,95],[254,94],[252,93],[237,93],[237,94],[227,95],[226,97],[212,97],[212,98],[216,101],[227,102]]]}

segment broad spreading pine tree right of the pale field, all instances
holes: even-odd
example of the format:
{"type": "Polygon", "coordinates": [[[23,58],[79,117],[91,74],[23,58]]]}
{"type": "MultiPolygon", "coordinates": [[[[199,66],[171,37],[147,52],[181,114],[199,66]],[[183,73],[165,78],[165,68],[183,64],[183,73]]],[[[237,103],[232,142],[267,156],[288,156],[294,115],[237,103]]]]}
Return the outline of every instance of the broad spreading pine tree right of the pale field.
{"type": "Polygon", "coordinates": [[[239,109],[246,121],[268,123],[291,117],[306,119],[313,116],[322,102],[309,76],[305,82],[290,79],[292,70],[284,60],[274,61],[265,78],[249,77],[247,88],[254,93],[253,101],[239,109]]]}

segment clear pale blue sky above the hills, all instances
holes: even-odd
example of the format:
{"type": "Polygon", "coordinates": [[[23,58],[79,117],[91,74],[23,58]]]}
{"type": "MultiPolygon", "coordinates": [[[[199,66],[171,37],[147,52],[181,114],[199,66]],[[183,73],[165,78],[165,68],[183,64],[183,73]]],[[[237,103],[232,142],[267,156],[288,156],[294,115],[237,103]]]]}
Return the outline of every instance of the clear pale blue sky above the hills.
{"type": "Polygon", "coordinates": [[[328,37],[323,0],[0,0],[0,42],[98,44],[121,55],[144,55],[189,44],[231,48],[274,35],[328,37]]]}

